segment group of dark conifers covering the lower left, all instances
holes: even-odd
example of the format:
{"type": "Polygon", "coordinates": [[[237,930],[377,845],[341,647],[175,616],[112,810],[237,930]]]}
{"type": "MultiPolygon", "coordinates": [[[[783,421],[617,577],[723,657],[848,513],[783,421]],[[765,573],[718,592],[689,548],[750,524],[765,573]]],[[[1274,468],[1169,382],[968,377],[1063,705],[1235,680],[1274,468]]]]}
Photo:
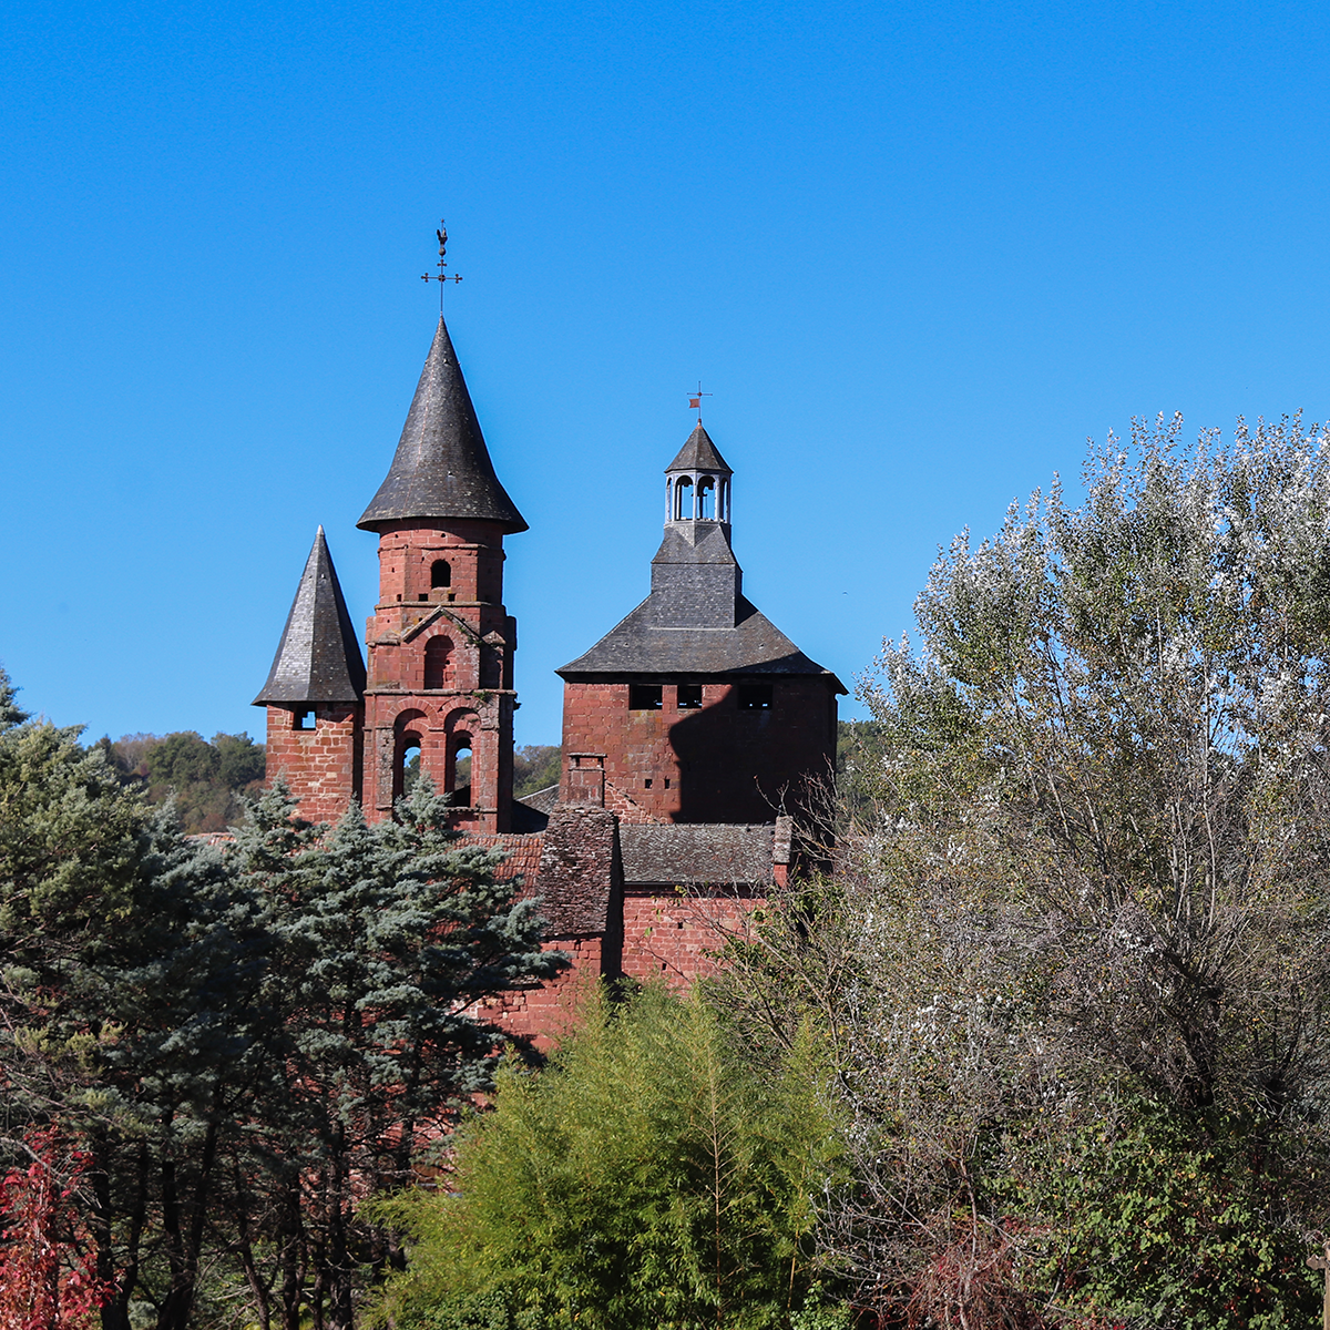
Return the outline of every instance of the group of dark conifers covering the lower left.
{"type": "MultiPolygon", "coordinates": [[[[347,1330],[399,1260],[366,1194],[414,1176],[488,1085],[477,1003],[561,963],[427,781],[372,827],[293,813],[277,789],[233,846],[192,842],[0,674],[0,1149],[16,1176],[44,1132],[85,1160],[69,1200],[105,1330],[242,1310],[347,1330]]],[[[48,1184],[7,1192],[7,1266],[48,1184]]]]}

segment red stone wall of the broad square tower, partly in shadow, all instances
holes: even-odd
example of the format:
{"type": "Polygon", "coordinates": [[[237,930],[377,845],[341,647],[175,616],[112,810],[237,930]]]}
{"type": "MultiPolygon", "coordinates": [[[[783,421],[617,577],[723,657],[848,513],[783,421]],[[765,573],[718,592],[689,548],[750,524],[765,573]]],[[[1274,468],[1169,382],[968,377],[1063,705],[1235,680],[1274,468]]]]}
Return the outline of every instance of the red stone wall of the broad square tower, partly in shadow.
{"type": "MultiPolygon", "coordinates": [[[[835,765],[835,693],[821,678],[767,676],[771,706],[743,710],[738,685],[704,684],[680,710],[628,708],[624,684],[564,685],[564,751],[605,754],[605,803],[629,822],[771,822],[835,765]]],[[[561,791],[567,797],[568,791],[561,791]]]]}

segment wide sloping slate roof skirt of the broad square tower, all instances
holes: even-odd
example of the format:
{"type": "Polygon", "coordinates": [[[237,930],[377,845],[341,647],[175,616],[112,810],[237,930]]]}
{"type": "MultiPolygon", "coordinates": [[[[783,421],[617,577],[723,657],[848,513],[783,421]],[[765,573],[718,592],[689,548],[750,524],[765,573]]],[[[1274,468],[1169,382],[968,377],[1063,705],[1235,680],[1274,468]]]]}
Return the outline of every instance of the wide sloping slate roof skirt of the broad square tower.
{"type": "Polygon", "coordinates": [[[826,674],[751,601],[739,596],[733,628],[660,628],[653,596],[612,628],[589,652],[556,670],[565,680],[581,674],[826,674]]]}

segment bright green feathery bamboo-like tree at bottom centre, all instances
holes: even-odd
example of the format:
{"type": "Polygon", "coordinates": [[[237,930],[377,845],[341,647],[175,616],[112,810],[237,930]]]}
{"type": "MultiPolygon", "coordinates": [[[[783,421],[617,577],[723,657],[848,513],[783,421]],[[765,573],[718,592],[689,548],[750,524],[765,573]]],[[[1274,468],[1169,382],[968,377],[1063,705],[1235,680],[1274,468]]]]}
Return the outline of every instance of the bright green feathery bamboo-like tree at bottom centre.
{"type": "Polygon", "coordinates": [[[380,1213],[415,1236],[402,1327],[783,1326],[830,1311],[814,1252],[835,1172],[807,1040],[754,1067],[698,998],[588,998],[531,1075],[509,1064],[448,1192],[380,1213]]]}

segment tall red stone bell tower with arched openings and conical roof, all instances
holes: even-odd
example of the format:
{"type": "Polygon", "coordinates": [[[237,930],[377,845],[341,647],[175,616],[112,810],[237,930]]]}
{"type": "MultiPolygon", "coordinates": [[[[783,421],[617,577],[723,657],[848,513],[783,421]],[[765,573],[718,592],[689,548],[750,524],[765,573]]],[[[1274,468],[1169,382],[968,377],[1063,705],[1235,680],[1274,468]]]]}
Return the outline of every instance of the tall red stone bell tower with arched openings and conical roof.
{"type": "Polygon", "coordinates": [[[392,466],[356,525],[379,536],[366,815],[391,815],[419,753],[420,770],[454,793],[455,826],[507,831],[517,624],[503,604],[503,537],[527,523],[495,475],[442,315],[392,466]]]}

